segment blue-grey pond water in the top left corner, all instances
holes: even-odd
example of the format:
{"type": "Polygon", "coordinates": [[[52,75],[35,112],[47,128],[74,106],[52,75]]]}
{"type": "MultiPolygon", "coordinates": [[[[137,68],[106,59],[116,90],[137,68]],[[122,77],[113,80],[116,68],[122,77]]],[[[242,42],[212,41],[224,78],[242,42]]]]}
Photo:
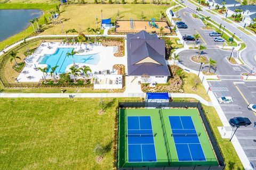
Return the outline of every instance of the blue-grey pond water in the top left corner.
{"type": "Polygon", "coordinates": [[[0,42],[25,30],[29,20],[41,15],[42,10],[0,10],[0,42]]]}

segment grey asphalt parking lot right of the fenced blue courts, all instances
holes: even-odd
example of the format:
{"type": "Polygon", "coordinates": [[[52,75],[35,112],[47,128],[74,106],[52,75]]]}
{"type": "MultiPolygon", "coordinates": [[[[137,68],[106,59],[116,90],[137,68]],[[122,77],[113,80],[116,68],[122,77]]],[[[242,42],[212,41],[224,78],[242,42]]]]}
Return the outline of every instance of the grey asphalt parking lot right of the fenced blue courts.
{"type": "MultiPolygon", "coordinates": [[[[255,104],[256,83],[243,81],[221,81],[209,82],[216,98],[231,96],[234,98],[232,104],[220,104],[222,111],[228,119],[233,117],[248,117],[252,122],[249,126],[241,126],[237,129],[236,137],[239,140],[247,158],[256,163],[256,128],[254,123],[256,117],[252,111],[247,109],[248,103],[255,104]],[[234,83],[235,82],[235,83],[234,83]],[[239,89],[239,90],[238,90],[239,89]]],[[[235,130],[235,129],[234,129],[235,130]]]]}

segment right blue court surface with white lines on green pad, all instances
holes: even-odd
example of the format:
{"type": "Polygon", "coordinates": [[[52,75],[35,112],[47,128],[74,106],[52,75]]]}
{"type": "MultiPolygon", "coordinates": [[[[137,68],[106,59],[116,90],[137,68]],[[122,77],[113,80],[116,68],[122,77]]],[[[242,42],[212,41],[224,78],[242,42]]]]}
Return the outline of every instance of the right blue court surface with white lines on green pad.
{"type": "Polygon", "coordinates": [[[169,116],[179,161],[204,161],[205,156],[191,116],[169,116]]]}

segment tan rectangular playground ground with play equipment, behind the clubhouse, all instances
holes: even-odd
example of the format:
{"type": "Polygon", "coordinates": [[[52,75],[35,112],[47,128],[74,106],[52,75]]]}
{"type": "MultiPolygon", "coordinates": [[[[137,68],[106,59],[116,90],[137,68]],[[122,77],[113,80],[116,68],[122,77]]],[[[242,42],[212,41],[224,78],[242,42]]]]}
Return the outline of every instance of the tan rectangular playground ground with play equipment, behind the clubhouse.
{"type": "Polygon", "coordinates": [[[151,20],[142,19],[123,19],[117,20],[115,22],[115,32],[116,33],[137,33],[141,30],[145,30],[148,33],[159,33],[160,28],[163,27],[164,34],[171,33],[171,27],[166,21],[156,21],[154,18],[151,20]]]}

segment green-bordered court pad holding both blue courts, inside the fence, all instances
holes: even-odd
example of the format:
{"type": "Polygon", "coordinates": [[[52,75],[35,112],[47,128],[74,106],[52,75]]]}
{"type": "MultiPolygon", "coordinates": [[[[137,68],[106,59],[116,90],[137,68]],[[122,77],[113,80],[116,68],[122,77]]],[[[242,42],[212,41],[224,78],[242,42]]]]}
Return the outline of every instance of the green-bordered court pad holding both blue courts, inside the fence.
{"type": "Polygon", "coordinates": [[[120,109],[119,167],[218,166],[197,109],[120,109]]]}

